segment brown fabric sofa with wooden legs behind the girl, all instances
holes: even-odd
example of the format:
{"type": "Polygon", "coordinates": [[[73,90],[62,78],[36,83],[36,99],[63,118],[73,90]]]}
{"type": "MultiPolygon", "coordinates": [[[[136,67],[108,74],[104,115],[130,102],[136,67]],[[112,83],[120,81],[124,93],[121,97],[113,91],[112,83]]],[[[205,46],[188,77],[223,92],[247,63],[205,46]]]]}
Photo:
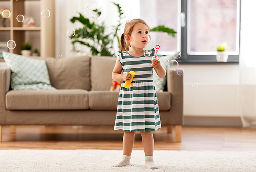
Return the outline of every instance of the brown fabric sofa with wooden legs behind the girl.
{"type": "MultiPolygon", "coordinates": [[[[118,91],[109,91],[116,58],[83,56],[45,59],[57,90],[10,90],[8,67],[0,66],[0,139],[4,125],[113,126],[118,91]]],[[[158,92],[162,126],[175,126],[181,141],[183,76],[167,71],[168,91],[158,92]]]]}

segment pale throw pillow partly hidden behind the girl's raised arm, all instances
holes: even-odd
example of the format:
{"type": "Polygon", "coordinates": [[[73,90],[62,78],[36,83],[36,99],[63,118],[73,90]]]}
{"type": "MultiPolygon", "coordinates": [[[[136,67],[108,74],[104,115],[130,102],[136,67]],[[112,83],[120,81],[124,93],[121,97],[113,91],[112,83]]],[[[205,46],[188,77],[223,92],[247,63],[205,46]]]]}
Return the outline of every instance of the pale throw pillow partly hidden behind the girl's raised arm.
{"type": "MultiPolygon", "coordinates": [[[[168,56],[163,56],[163,57],[159,57],[159,61],[162,65],[162,67],[167,71],[168,70],[168,64],[165,64],[166,58],[170,61],[172,60],[172,56],[168,55],[168,56]]],[[[165,76],[164,78],[159,78],[157,76],[156,71],[153,68],[153,82],[156,88],[157,92],[163,92],[165,84],[166,84],[166,80],[167,80],[167,76],[165,76]]]]}

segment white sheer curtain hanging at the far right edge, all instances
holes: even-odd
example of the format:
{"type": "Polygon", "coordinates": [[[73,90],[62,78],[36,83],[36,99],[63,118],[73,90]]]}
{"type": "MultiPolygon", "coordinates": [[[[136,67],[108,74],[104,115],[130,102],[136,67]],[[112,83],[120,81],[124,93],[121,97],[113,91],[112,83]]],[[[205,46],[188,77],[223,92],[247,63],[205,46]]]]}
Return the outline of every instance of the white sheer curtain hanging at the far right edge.
{"type": "Polygon", "coordinates": [[[240,100],[243,127],[256,128],[256,1],[241,4],[240,100]]]}

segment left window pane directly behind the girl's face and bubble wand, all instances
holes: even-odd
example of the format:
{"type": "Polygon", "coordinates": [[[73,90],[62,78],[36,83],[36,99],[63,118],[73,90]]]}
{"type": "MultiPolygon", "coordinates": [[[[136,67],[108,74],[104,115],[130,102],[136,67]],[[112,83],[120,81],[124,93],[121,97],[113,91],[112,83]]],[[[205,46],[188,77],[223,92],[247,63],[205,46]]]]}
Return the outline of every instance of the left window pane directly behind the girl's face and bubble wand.
{"type": "Polygon", "coordinates": [[[146,21],[150,28],[164,25],[178,32],[172,37],[164,32],[150,32],[151,41],[147,47],[152,48],[160,45],[158,55],[172,54],[172,51],[180,51],[180,1],[177,0],[142,0],[141,18],[146,21]]]}

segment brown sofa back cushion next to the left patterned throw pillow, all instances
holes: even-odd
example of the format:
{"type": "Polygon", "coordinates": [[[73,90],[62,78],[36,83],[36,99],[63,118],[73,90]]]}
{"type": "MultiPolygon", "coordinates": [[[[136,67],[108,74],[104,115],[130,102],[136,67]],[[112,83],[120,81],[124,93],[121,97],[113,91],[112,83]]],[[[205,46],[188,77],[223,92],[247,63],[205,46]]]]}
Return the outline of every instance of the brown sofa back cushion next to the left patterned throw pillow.
{"type": "Polygon", "coordinates": [[[43,58],[56,89],[90,90],[90,57],[43,58]]]}

